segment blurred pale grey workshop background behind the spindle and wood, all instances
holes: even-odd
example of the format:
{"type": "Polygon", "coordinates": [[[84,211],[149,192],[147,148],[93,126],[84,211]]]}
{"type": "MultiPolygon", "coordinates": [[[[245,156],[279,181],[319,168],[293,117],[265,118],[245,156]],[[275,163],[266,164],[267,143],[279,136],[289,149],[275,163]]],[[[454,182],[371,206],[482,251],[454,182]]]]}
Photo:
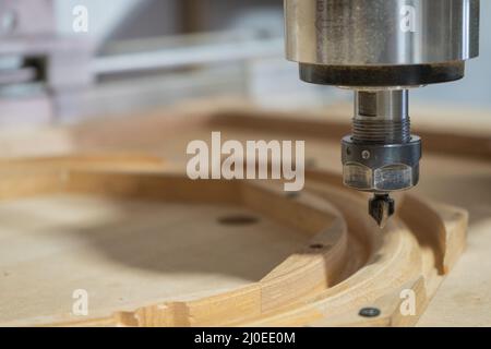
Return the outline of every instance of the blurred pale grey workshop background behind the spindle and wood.
{"type": "MultiPolygon", "coordinates": [[[[416,104],[491,109],[491,1],[481,12],[466,79],[418,89],[416,104]]],[[[283,109],[351,99],[299,81],[284,58],[282,0],[0,0],[0,124],[217,96],[283,109]],[[87,31],[74,28],[84,15],[87,31]]]]}

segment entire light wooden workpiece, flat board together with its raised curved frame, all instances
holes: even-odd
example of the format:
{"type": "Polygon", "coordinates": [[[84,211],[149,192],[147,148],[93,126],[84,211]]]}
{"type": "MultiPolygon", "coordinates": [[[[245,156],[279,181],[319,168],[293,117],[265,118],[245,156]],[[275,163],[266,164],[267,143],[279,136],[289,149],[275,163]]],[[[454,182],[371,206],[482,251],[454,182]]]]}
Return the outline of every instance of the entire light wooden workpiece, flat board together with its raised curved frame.
{"type": "MultiPolygon", "coordinates": [[[[324,136],[319,130],[332,129],[316,117],[239,109],[23,131],[46,141],[43,149],[17,148],[22,132],[0,135],[11,155],[55,156],[0,164],[0,323],[491,325],[489,152],[469,147],[455,158],[451,145],[430,143],[421,183],[398,197],[398,215],[381,233],[366,197],[339,183],[336,137],[346,125],[324,136]],[[290,118],[291,128],[275,129],[276,118],[290,118]],[[187,180],[185,145],[211,131],[306,140],[306,189],[294,196],[270,181],[187,180]],[[56,157],[95,152],[103,155],[56,157]],[[91,314],[81,318],[70,314],[71,296],[84,287],[91,314]],[[399,311],[408,289],[414,316],[399,311]],[[364,306],[382,314],[359,316],[364,306]]],[[[480,132],[459,136],[483,144],[480,132]]]]}

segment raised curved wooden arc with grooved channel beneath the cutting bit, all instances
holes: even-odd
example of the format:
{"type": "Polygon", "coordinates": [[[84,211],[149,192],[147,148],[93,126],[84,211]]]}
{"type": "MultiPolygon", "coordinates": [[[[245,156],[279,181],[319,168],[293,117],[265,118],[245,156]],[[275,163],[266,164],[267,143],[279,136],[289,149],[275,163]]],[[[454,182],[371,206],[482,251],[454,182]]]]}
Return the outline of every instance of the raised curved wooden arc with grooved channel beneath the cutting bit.
{"type": "Polygon", "coordinates": [[[46,325],[412,325],[463,250],[467,214],[458,208],[407,195],[402,214],[380,231],[368,215],[360,215],[366,200],[334,184],[330,173],[311,171],[306,190],[291,196],[282,183],[192,181],[166,172],[161,164],[154,167],[157,163],[145,172],[109,171],[76,160],[51,160],[36,171],[26,171],[35,163],[17,170],[0,168],[0,197],[69,192],[243,205],[301,230],[310,237],[309,245],[258,282],[232,291],[46,325]],[[415,314],[399,311],[404,290],[416,297],[415,314]],[[376,306],[382,314],[360,317],[363,306],[376,306]]]}

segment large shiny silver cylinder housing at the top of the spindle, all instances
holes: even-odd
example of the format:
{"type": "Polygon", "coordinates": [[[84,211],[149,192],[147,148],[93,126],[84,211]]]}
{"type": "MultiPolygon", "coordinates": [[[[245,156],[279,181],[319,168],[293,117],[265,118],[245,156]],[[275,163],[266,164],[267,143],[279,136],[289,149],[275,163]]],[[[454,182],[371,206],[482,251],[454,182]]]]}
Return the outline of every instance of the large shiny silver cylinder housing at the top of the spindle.
{"type": "Polygon", "coordinates": [[[326,65],[432,64],[479,55],[479,0],[285,0],[286,51],[326,65]]]}

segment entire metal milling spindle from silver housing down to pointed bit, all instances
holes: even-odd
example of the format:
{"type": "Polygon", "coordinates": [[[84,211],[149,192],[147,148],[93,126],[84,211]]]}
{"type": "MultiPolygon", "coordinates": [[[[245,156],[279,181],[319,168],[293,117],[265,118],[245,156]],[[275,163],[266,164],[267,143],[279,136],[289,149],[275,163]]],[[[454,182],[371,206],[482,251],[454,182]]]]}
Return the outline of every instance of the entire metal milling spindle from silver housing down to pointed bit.
{"type": "Polygon", "coordinates": [[[381,228],[395,212],[390,194],[419,180],[409,91],[464,77],[479,55],[479,0],[285,0],[286,55],[300,79],[354,91],[343,181],[373,193],[381,228]]]}

